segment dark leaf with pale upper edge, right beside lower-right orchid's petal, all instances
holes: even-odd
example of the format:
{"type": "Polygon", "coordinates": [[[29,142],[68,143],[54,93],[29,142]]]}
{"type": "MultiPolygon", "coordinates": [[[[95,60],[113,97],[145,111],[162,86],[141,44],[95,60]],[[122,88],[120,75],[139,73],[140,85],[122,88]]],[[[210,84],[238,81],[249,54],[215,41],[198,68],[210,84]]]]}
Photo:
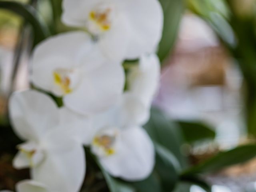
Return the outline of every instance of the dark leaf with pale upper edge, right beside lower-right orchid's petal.
{"type": "Polygon", "coordinates": [[[172,191],[178,182],[180,163],[177,158],[163,146],[156,144],[156,172],[160,176],[162,188],[172,191]]]}

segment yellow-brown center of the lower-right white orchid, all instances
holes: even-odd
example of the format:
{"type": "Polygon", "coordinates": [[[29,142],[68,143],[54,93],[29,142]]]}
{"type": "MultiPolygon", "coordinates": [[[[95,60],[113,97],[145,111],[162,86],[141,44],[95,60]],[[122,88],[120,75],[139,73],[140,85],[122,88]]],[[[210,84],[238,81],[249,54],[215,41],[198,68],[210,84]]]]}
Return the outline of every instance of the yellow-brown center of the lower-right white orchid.
{"type": "Polygon", "coordinates": [[[96,136],[93,140],[93,144],[102,148],[106,156],[110,156],[115,153],[115,150],[112,147],[114,140],[114,137],[108,135],[96,136]]]}

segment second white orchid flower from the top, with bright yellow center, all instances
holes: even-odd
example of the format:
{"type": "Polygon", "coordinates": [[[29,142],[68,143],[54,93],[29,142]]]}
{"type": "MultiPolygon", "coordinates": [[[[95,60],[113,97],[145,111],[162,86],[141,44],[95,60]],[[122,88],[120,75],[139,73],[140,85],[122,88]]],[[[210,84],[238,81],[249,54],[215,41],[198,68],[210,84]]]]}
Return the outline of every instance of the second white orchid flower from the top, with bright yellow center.
{"type": "Polygon", "coordinates": [[[56,96],[81,114],[93,114],[111,106],[122,94],[124,70],[105,58],[84,32],[48,38],[32,56],[33,84],[56,96]]]}

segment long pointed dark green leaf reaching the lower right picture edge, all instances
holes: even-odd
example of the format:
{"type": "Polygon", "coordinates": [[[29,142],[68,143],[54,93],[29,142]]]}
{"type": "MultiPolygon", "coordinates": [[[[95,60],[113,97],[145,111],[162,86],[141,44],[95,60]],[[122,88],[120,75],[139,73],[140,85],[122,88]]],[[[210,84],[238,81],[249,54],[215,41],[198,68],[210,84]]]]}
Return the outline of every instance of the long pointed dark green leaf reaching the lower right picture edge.
{"type": "Polygon", "coordinates": [[[226,152],[220,152],[216,156],[189,168],[182,176],[194,175],[198,173],[216,172],[222,168],[234,164],[244,163],[256,156],[256,144],[239,146],[226,152]]]}

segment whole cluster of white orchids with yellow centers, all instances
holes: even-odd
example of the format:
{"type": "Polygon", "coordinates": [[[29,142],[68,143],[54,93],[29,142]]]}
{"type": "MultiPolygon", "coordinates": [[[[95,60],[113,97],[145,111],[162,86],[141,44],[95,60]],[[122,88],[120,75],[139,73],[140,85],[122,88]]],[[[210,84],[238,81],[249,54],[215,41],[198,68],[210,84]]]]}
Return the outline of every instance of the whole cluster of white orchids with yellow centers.
{"type": "Polygon", "coordinates": [[[162,35],[162,8],[158,0],[62,4],[62,21],[86,30],[36,46],[30,76],[36,90],[10,98],[12,126],[25,141],[13,165],[30,168],[32,178],[16,190],[78,192],[86,173],[83,146],[110,175],[143,180],[154,167],[154,145],[142,126],[160,76],[154,52],[162,35]],[[138,62],[124,71],[124,60],[138,62]],[[63,106],[49,95],[62,98],[63,106]]]}

